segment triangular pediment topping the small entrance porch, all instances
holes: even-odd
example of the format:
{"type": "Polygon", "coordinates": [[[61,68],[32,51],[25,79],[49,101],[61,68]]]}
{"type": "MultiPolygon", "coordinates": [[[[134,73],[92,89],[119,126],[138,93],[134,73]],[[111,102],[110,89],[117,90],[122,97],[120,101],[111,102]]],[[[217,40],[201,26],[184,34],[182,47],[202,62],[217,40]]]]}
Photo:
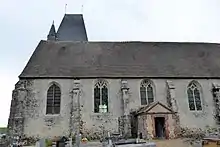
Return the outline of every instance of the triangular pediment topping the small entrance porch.
{"type": "Polygon", "coordinates": [[[148,114],[148,113],[175,113],[169,107],[162,104],[161,102],[154,102],[147,106],[141,107],[137,114],[148,114]]]}

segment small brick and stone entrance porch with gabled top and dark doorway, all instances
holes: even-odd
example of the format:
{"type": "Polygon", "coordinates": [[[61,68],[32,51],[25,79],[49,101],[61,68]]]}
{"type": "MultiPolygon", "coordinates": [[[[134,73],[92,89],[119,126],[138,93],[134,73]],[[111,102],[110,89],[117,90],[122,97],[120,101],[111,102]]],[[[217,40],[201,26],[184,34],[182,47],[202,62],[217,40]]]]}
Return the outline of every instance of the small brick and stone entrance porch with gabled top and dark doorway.
{"type": "MultiPolygon", "coordinates": [[[[133,113],[134,114],[134,113],[133,113]]],[[[154,102],[135,112],[137,134],[143,138],[175,138],[176,113],[161,102],[154,102]]]]}

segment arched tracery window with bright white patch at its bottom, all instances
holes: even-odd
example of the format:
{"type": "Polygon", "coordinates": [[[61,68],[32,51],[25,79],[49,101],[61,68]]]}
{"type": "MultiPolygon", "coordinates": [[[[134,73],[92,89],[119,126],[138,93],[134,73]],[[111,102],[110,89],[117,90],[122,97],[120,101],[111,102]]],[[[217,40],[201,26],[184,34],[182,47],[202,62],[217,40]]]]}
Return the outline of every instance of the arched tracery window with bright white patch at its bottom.
{"type": "Polygon", "coordinates": [[[105,80],[98,80],[94,86],[94,112],[99,113],[100,108],[108,112],[108,84],[105,80]]]}

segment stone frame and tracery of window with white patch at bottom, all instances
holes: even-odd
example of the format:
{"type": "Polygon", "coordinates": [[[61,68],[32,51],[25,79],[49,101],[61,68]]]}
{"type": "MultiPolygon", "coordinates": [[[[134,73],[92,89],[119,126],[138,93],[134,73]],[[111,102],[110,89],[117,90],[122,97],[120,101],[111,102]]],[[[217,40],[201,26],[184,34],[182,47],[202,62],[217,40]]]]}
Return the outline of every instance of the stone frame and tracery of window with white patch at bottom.
{"type": "MultiPolygon", "coordinates": [[[[110,91],[109,89],[110,88],[109,88],[109,82],[105,79],[97,79],[97,80],[95,80],[95,82],[93,84],[93,113],[100,114],[99,108],[97,108],[95,106],[96,105],[95,104],[95,88],[96,87],[99,87],[101,89],[104,88],[104,87],[107,88],[107,104],[106,104],[107,112],[106,113],[109,113],[109,91],[110,91]],[[98,111],[97,111],[97,109],[98,109],[98,111]]],[[[102,97],[102,93],[100,93],[100,104],[102,104],[102,100],[103,100],[103,98],[101,98],[101,97],[102,97]]]]}

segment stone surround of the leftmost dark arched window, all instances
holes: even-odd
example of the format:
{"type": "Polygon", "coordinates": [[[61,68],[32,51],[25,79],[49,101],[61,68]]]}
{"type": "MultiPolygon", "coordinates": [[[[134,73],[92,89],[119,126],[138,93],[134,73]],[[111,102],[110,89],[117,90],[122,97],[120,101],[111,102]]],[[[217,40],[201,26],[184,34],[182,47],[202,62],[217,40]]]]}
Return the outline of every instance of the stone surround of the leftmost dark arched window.
{"type": "MultiPolygon", "coordinates": [[[[55,90],[55,89],[54,89],[55,90]]],[[[53,91],[54,92],[54,91],[53,91]]],[[[62,90],[61,90],[61,86],[60,86],[60,84],[58,84],[57,82],[51,82],[49,85],[48,85],[48,89],[47,89],[47,91],[46,91],[46,107],[45,107],[45,114],[46,114],[46,116],[56,116],[56,115],[60,115],[60,113],[61,113],[61,97],[62,97],[62,90]],[[52,86],[56,86],[56,87],[58,87],[59,88],[59,94],[60,94],[60,96],[59,96],[59,113],[58,112],[56,112],[56,113],[54,113],[54,112],[52,112],[52,113],[49,113],[48,112],[48,91],[50,90],[50,88],[52,87],[52,86]]],[[[53,93],[53,101],[54,101],[54,93],[53,93]]],[[[53,104],[53,107],[54,107],[54,104],[53,104]]]]}

